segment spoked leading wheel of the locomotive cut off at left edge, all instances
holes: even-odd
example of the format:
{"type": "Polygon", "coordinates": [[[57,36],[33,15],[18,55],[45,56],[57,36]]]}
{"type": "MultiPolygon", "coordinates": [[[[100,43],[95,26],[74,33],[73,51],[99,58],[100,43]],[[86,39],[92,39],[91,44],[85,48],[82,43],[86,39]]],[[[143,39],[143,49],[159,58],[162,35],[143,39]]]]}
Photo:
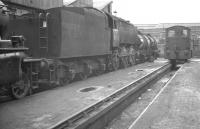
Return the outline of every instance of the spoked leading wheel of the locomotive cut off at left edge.
{"type": "Polygon", "coordinates": [[[23,73],[22,79],[11,86],[11,94],[15,99],[21,99],[30,93],[30,80],[28,76],[23,73]]]}

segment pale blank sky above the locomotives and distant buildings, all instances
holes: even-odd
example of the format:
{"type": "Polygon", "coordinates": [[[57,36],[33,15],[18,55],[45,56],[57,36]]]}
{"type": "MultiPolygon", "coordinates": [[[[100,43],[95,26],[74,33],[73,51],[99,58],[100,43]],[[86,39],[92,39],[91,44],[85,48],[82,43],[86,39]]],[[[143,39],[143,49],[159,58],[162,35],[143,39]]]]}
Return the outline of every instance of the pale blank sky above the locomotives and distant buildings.
{"type": "Polygon", "coordinates": [[[134,24],[200,23],[200,0],[113,0],[115,10],[134,24]]]}

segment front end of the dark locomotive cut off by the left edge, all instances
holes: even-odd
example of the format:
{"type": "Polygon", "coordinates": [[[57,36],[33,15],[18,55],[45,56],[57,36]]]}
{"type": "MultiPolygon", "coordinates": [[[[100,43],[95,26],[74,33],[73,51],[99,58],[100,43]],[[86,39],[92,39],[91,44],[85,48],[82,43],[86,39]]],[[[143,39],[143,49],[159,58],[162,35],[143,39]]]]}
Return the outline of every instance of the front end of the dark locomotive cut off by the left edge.
{"type": "Polygon", "coordinates": [[[24,47],[23,36],[5,38],[9,22],[10,10],[0,1],[0,95],[11,93],[15,98],[21,98],[29,92],[26,70],[23,69],[23,58],[28,48],[24,47]]]}

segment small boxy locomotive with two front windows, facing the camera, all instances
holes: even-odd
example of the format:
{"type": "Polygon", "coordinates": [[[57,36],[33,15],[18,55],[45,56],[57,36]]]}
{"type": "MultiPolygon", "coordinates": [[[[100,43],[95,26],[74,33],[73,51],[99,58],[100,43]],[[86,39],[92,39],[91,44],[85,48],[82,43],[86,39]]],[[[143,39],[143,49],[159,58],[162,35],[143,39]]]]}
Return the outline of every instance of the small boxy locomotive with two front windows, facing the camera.
{"type": "Polygon", "coordinates": [[[165,58],[169,59],[172,68],[177,61],[186,62],[192,57],[191,30],[185,26],[172,26],[166,29],[165,58]]]}

